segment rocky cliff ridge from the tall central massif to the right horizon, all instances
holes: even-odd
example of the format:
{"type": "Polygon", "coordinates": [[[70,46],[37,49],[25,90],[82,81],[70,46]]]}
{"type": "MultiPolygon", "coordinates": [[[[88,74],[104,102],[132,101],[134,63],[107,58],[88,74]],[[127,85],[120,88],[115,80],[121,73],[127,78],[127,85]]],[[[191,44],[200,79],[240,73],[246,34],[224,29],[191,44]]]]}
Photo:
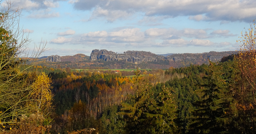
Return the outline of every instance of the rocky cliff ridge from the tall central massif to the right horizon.
{"type": "Polygon", "coordinates": [[[91,52],[90,59],[118,61],[125,60],[132,63],[151,62],[153,64],[177,64],[178,66],[189,66],[190,64],[208,64],[208,59],[212,62],[219,62],[222,57],[237,54],[237,51],[223,51],[223,52],[205,52],[205,53],[183,53],[172,54],[168,56],[156,55],[146,51],[125,51],[123,54],[117,54],[113,51],[95,49],[91,52]],[[169,62],[168,62],[169,61],[169,62]]]}

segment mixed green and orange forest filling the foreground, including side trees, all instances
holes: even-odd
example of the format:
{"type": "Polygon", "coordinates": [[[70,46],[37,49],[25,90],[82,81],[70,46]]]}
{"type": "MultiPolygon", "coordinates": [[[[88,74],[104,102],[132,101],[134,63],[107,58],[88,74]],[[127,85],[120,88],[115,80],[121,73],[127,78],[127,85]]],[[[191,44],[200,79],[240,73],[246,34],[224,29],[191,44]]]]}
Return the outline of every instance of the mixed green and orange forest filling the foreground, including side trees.
{"type": "MultiPolygon", "coordinates": [[[[27,64],[16,12],[0,12],[1,134],[256,133],[255,25],[237,55],[128,76],[27,64]]],[[[37,50],[35,61],[44,45],[37,50]]]]}

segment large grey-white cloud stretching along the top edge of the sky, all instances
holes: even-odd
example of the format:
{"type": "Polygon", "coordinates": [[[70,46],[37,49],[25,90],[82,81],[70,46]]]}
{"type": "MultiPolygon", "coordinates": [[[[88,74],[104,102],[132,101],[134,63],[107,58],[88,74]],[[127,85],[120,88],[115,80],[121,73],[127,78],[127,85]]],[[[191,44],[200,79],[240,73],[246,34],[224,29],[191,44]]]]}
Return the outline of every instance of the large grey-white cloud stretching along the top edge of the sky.
{"type": "Polygon", "coordinates": [[[111,16],[112,11],[123,12],[122,15],[126,16],[122,18],[130,16],[130,13],[143,12],[146,16],[190,16],[190,19],[196,21],[248,21],[256,16],[256,1],[253,0],[72,0],[72,2],[74,8],[78,10],[95,8],[94,12],[98,14],[107,11],[108,17],[111,16]]]}

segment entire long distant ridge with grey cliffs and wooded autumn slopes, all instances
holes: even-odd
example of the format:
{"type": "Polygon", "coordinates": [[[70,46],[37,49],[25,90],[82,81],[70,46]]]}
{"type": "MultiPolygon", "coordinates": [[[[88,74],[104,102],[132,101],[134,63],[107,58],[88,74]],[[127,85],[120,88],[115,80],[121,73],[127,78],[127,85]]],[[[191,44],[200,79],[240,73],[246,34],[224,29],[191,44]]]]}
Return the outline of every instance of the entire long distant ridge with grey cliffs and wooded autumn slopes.
{"type": "Polygon", "coordinates": [[[46,56],[43,56],[37,60],[37,64],[52,68],[135,69],[139,67],[145,69],[168,69],[170,67],[178,68],[208,64],[208,59],[213,62],[219,62],[222,57],[237,53],[238,51],[210,51],[205,53],[156,55],[146,51],[126,51],[124,54],[117,54],[105,49],[95,49],[91,52],[91,56],[84,54],[61,56],[61,62],[47,62],[46,56]]]}

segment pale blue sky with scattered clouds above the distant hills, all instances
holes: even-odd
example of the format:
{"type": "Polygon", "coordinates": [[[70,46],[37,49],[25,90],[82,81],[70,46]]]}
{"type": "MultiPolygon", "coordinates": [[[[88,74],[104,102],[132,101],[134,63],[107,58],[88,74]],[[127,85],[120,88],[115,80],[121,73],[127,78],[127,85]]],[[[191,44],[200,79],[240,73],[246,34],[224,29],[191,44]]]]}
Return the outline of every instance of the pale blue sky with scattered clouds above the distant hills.
{"type": "MultiPolygon", "coordinates": [[[[255,0],[12,0],[28,48],[42,56],[94,49],[155,54],[235,51],[256,18],[255,0]],[[245,29],[244,29],[245,28],[245,29]]],[[[9,3],[10,3],[9,2],[9,3]]],[[[6,6],[2,0],[1,6],[6,6]]]]}

